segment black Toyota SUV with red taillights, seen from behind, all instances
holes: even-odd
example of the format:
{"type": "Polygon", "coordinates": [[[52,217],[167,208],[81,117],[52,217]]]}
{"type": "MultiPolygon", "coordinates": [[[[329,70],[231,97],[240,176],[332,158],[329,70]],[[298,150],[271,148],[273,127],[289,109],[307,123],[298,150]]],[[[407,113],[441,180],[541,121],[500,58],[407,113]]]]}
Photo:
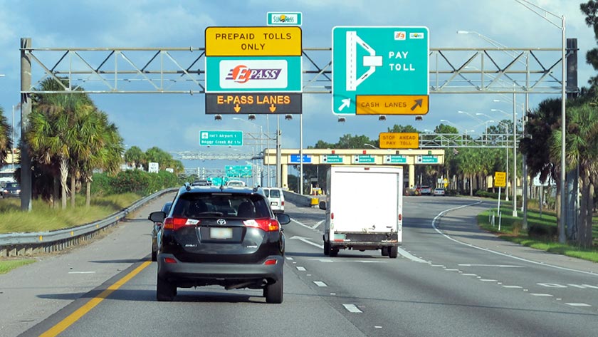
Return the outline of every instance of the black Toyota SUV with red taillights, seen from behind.
{"type": "Polygon", "coordinates": [[[287,214],[273,214],[260,190],[249,187],[182,187],[163,222],[157,255],[157,300],[172,301],[177,287],[220,285],[263,289],[268,303],[283,301],[287,214]]]}

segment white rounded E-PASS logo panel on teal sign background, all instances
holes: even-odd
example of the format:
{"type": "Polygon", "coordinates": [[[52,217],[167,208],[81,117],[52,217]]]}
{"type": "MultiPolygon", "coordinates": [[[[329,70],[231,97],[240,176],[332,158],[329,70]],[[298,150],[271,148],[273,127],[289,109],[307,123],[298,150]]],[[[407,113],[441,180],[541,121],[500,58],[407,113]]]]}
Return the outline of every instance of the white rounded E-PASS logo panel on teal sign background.
{"type": "Polygon", "coordinates": [[[219,84],[224,89],[284,89],[288,86],[286,60],[221,60],[219,84]]]}

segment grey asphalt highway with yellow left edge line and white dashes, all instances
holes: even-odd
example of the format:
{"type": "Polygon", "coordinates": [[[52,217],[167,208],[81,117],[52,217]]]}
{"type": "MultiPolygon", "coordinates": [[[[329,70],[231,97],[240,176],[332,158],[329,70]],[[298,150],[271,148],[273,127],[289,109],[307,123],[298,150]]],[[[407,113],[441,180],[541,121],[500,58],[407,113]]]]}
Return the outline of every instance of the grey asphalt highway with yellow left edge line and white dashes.
{"type": "Polygon", "coordinates": [[[287,203],[293,222],[284,227],[283,304],[266,304],[261,291],[219,286],[179,289],[174,302],[157,302],[145,217],[167,199],[144,207],[139,219],[103,239],[0,275],[0,335],[595,336],[598,331],[597,264],[495,239],[475,225],[476,214],[491,204],[453,197],[404,198],[398,259],[379,251],[324,256],[323,211],[287,203]]]}

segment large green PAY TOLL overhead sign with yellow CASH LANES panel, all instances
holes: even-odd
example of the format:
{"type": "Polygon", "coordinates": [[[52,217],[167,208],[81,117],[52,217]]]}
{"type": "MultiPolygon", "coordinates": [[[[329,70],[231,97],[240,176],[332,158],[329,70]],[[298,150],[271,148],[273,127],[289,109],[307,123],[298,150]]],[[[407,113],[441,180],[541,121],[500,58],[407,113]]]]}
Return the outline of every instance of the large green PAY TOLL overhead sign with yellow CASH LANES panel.
{"type": "Polygon", "coordinates": [[[332,113],[424,115],[429,110],[429,29],[332,29],[332,113]]]}

